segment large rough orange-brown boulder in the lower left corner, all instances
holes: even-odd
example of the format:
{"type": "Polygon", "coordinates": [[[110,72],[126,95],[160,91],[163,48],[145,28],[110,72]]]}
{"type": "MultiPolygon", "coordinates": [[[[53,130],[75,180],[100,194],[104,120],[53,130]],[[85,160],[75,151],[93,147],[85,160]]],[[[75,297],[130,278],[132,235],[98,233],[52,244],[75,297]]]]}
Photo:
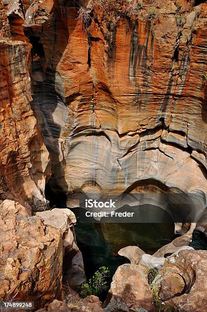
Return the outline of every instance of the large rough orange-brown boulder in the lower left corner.
{"type": "Polygon", "coordinates": [[[61,298],[61,231],[12,200],[4,200],[0,212],[0,301],[15,297],[40,307],[61,298]]]}

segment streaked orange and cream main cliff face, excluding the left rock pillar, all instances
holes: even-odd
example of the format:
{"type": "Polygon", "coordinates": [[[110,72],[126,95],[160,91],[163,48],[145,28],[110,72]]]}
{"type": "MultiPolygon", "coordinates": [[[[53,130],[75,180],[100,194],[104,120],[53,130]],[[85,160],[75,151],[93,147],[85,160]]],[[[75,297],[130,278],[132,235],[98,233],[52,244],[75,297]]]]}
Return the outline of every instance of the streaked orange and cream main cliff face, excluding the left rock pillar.
{"type": "MultiPolygon", "coordinates": [[[[179,30],[168,0],[157,8],[159,22],[139,14],[137,23],[120,18],[110,30],[96,9],[87,32],[78,8],[23,5],[50,190],[70,206],[78,205],[76,192],[122,193],[150,180],[205,197],[206,4],[186,6],[179,30]]],[[[81,5],[88,14],[93,3],[81,5]]]]}

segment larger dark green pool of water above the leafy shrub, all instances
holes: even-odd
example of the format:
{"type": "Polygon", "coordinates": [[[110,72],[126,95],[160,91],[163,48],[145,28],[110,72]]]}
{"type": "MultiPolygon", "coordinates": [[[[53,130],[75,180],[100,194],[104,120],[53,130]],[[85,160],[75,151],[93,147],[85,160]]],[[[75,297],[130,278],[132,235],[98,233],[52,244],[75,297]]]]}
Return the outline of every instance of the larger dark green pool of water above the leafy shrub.
{"type": "Polygon", "coordinates": [[[129,263],[118,255],[126,246],[139,246],[153,254],[174,238],[174,225],[165,223],[77,223],[76,240],[83,254],[87,277],[101,266],[109,268],[111,276],[118,266],[129,263]]]}

